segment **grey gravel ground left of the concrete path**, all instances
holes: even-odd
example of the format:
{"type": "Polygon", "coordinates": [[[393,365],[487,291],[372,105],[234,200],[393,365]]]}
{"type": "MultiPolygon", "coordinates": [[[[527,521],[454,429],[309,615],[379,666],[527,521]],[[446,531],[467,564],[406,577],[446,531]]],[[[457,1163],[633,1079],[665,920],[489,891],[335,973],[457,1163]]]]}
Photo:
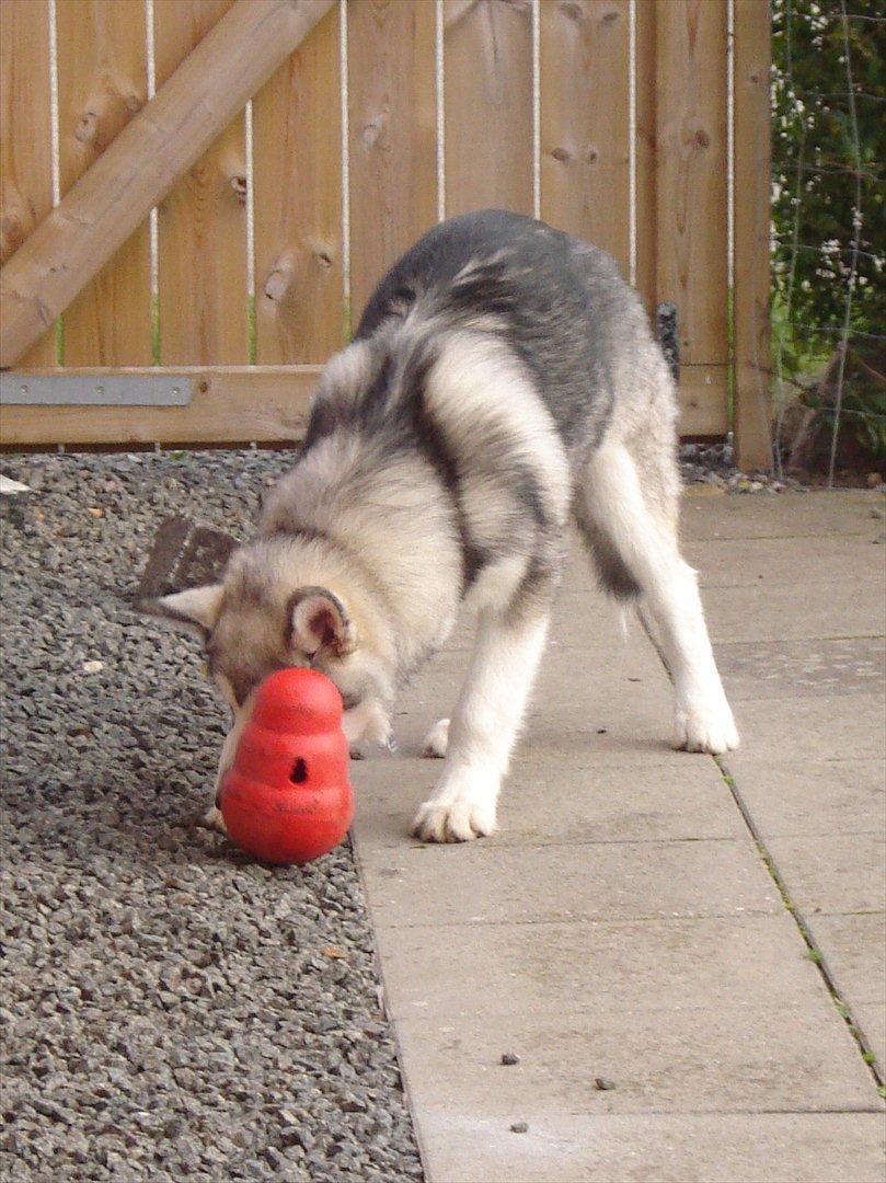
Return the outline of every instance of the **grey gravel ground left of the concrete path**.
{"type": "Polygon", "coordinates": [[[421,1178],[351,852],[198,826],[224,712],[125,599],[163,517],[244,536],[286,466],[4,458],[4,1178],[421,1178]]]}

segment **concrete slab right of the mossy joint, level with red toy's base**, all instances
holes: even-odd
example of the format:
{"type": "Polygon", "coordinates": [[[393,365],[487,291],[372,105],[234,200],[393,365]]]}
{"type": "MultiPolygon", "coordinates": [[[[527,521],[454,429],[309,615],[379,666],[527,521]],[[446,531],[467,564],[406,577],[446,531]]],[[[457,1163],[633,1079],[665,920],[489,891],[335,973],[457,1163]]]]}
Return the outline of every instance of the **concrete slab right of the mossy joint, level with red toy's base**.
{"type": "Polygon", "coordinates": [[[791,899],[811,922],[816,913],[882,911],[886,845],[877,835],[774,838],[768,846],[791,899]]]}

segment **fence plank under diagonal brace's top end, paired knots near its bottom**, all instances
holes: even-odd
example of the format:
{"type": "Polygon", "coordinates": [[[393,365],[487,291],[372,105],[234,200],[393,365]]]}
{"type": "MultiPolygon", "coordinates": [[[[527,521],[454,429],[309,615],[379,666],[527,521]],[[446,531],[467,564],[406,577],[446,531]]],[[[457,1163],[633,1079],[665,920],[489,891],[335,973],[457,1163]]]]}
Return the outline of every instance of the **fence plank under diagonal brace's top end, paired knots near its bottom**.
{"type": "Polygon", "coordinates": [[[261,363],[323,362],[344,340],[337,7],[253,102],[256,341],[261,363]]]}

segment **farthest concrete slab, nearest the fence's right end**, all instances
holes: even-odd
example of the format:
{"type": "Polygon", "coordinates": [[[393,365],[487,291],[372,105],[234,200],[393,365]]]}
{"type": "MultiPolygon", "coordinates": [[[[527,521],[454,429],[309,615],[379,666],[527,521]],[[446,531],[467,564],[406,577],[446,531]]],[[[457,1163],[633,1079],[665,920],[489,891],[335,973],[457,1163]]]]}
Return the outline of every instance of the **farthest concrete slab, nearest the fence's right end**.
{"type": "MultiPolygon", "coordinates": [[[[699,497],[687,489],[680,526],[687,538],[796,538],[871,535],[881,493],[862,489],[780,493],[774,497],[699,497]]],[[[882,529],[880,523],[879,529],[882,529]]]]}

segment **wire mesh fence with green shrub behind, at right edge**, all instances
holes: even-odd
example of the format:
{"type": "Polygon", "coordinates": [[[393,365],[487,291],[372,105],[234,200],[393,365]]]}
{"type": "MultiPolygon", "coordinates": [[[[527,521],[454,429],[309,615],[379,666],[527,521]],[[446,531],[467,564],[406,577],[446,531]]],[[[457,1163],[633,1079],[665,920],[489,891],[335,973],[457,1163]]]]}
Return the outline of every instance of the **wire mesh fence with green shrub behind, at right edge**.
{"type": "Polygon", "coordinates": [[[775,461],[886,466],[886,15],[771,0],[775,461]]]}

